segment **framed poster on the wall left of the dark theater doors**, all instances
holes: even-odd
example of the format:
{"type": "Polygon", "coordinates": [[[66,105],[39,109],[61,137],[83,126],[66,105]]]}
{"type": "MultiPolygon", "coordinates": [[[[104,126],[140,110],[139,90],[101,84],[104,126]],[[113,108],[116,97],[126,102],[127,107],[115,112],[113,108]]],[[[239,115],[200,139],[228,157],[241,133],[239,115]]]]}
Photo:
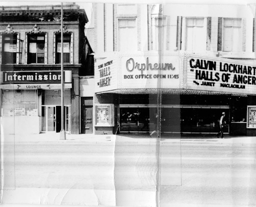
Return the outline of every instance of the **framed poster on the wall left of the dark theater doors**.
{"type": "Polygon", "coordinates": [[[95,104],[95,126],[113,126],[113,104],[95,104]]]}

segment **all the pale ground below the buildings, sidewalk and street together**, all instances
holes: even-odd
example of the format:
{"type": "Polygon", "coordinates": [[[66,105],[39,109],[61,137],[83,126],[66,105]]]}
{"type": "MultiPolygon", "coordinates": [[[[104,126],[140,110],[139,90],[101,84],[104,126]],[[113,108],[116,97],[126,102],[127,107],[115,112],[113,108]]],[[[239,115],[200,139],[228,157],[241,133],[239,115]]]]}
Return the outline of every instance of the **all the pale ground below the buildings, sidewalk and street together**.
{"type": "Polygon", "coordinates": [[[256,206],[256,137],[1,137],[3,203],[256,206]]]}

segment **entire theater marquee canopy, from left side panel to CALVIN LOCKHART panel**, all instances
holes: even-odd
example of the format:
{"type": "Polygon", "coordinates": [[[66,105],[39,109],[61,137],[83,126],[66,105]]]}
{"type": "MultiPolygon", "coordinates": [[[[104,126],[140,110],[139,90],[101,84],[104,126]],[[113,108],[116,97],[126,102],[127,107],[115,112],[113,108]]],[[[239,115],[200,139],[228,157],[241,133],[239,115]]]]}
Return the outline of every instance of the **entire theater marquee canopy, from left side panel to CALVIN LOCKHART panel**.
{"type": "Polygon", "coordinates": [[[95,92],[256,94],[256,65],[187,52],[115,53],[95,63],[95,92]]]}

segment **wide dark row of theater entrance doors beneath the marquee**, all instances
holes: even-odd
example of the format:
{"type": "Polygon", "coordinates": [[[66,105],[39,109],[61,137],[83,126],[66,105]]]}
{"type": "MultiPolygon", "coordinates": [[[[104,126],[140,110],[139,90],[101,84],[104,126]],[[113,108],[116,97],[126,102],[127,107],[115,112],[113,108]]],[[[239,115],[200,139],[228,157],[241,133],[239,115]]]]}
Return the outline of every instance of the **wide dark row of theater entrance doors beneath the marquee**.
{"type": "MultiPolygon", "coordinates": [[[[123,104],[124,105],[124,104],[123,104]]],[[[120,105],[120,132],[147,132],[153,128],[156,106],[120,105]]],[[[229,132],[229,106],[162,105],[161,132],[217,133],[219,118],[225,112],[224,132],[229,132]]]]}

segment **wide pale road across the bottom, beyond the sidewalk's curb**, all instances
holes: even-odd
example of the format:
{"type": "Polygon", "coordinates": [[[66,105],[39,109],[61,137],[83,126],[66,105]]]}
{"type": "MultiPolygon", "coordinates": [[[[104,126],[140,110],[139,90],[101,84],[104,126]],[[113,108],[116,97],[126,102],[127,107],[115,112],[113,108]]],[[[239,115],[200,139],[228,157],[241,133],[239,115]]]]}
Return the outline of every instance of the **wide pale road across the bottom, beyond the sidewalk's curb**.
{"type": "MultiPolygon", "coordinates": [[[[157,206],[155,200],[160,206],[256,205],[254,144],[20,143],[3,152],[6,185],[13,189],[110,190],[119,206],[157,206]]],[[[65,204],[75,200],[69,196],[65,204]]]]}

